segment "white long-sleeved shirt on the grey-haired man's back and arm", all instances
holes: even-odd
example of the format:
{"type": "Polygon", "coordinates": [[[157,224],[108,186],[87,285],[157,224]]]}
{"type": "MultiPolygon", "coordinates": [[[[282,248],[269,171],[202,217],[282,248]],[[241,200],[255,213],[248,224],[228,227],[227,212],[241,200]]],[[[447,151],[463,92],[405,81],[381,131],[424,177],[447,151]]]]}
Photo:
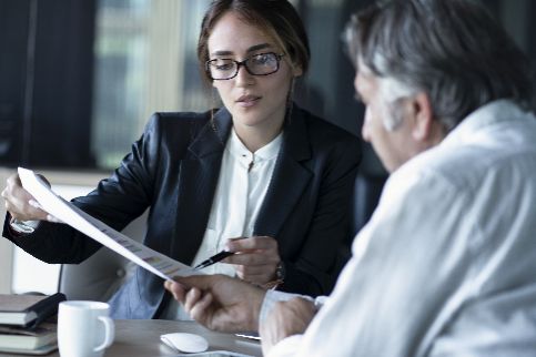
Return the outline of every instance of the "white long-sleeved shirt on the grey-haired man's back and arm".
{"type": "Polygon", "coordinates": [[[493,102],[400,167],[331,297],[269,356],[536,356],[536,118],[493,102]]]}

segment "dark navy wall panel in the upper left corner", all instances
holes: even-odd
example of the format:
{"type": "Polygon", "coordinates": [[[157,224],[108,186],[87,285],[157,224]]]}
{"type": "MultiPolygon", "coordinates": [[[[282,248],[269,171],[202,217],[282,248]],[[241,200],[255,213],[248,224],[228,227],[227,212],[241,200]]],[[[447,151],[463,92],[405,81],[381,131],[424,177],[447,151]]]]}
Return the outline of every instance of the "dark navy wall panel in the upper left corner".
{"type": "Polygon", "coordinates": [[[93,0],[0,0],[0,164],[93,166],[93,0]]]}

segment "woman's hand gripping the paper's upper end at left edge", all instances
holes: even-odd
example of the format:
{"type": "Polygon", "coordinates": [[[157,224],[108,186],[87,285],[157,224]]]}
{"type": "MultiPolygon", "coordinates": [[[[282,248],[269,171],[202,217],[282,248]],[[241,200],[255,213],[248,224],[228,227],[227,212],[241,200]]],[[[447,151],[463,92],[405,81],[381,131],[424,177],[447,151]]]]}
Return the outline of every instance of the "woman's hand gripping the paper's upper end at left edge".
{"type": "Polygon", "coordinates": [[[16,220],[58,222],[53,216],[41,210],[33,196],[22,187],[18,174],[8,177],[2,197],[6,200],[6,210],[16,220]]]}

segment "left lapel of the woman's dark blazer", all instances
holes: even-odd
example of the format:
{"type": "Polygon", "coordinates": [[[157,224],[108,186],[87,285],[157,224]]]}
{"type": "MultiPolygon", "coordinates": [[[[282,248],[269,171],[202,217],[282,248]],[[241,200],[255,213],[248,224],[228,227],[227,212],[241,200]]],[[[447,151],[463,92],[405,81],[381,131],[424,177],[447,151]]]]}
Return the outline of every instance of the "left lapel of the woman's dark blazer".
{"type": "Polygon", "coordinates": [[[230,113],[224,109],[218,111],[191,143],[181,163],[171,252],[172,257],[184,264],[192,263],[201,245],[231,128],[230,113]]]}

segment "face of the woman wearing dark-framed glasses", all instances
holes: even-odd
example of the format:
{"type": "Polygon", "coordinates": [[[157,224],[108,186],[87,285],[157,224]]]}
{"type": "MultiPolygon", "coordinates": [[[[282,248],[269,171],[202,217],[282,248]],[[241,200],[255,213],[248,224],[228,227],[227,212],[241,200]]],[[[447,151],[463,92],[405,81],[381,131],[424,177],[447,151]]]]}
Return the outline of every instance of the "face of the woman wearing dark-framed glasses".
{"type": "MultiPolygon", "coordinates": [[[[259,53],[283,53],[264,32],[245,23],[232,11],[216,22],[208,44],[211,60],[241,62],[259,53]]],[[[252,75],[242,65],[236,76],[213,81],[223,104],[233,115],[239,136],[259,130],[281,131],[292,78],[301,74],[301,70],[293,71],[287,61],[283,57],[279,71],[269,75],[252,75]]]]}

